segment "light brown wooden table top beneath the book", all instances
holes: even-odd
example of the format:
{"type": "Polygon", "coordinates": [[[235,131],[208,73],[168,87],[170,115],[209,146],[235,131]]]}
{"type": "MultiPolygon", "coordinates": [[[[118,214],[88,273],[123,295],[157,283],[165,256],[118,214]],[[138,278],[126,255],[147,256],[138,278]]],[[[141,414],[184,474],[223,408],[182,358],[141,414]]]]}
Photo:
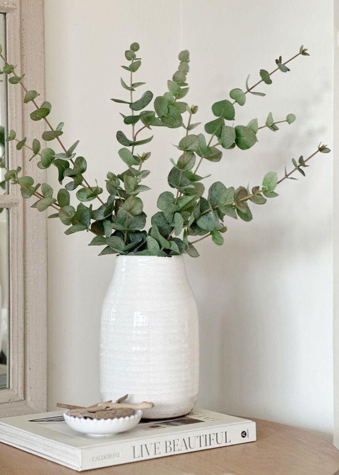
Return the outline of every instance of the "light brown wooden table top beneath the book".
{"type": "MultiPolygon", "coordinates": [[[[305,430],[252,419],[257,441],[127,463],[86,475],[339,475],[339,451],[305,430]]],[[[0,443],[0,475],[74,475],[77,472],[0,443]]]]}

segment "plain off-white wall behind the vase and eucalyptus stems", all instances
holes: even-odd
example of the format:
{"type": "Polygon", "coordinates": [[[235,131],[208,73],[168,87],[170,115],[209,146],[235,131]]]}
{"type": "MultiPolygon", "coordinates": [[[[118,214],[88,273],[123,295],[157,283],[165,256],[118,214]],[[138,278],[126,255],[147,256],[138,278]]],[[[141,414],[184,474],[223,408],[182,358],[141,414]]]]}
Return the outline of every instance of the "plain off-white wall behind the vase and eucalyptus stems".
{"type": "MultiPolygon", "coordinates": [[[[115,131],[123,107],[123,52],[140,43],[138,80],[155,95],[166,90],[177,53],[191,53],[187,100],[200,106],[197,120],[211,120],[210,106],[247,74],[272,70],[301,44],[310,57],[278,72],[271,86],[247,95],[237,122],[272,111],[297,122],[277,133],[264,129],[249,151],[225,153],[205,163],[208,180],[228,186],[260,184],[263,175],[291,158],[308,156],[321,140],[332,142],[332,1],[285,0],[260,4],[231,0],[123,1],[45,0],[47,99],[54,123],[65,122],[64,139],[80,139],[78,153],[89,163],[91,180],[104,183],[108,170],[121,171],[115,131]],[[319,27],[321,25],[321,27],[319,27]]],[[[148,214],[166,189],[171,145],[178,130],[155,130],[152,170],[145,198],[148,214]]],[[[200,259],[187,257],[187,272],[200,310],[201,383],[199,404],[233,414],[272,419],[330,436],[332,433],[332,156],[314,159],[307,178],[284,182],[280,196],[252,206],[251,223],[228,222],[223,248],[204,240],[200,259]]],[[[50,179],[54,170],[49,173],[50,179]]],[[[301,176],[301,175],[300,175],[301,176]]],[[[54,183],[56,183],[55,178],[54,183]]],[[[100,306],[114,257],[86,248],[85,233],[66,237],[49,223],[49,408],[57,401],[86,404],[99,398],[100,306]]]]}

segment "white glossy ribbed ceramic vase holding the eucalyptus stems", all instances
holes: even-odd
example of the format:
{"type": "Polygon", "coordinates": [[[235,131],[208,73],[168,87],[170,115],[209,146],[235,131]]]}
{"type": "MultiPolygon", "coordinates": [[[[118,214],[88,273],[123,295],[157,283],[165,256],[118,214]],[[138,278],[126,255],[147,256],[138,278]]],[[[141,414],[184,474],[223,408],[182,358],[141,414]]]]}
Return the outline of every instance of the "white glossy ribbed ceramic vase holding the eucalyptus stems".
{"type": "Polygon", "coordinates": [[[184,258],[119,255],[100,325],[103,401],[152,401],[143,417],[189,412],[199,390],[199,321],[184,258]]]}

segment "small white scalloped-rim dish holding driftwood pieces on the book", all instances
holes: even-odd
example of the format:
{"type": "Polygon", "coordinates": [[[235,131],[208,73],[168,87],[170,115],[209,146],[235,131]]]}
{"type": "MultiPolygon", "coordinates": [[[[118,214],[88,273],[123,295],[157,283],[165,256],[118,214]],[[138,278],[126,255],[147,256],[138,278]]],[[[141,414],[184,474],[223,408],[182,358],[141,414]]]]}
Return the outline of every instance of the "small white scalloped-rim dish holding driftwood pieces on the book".
{"type": "Polygon", "coordinates": [[[90,437],[108,437],[129,430],[139,423],[141,416],[140,409],[131,416],[114,419],[85,419],[84,417],[70,416],[69,411],[63,413],[68,427],[90,437]]]}

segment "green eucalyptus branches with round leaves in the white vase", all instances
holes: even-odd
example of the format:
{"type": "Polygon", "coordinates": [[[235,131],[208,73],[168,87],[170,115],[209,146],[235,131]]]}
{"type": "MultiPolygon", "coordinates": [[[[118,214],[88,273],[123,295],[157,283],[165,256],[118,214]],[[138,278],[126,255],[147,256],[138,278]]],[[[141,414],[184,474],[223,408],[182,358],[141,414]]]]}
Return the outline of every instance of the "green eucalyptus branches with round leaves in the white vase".
{"type": "Polygon", "coordinates": [[[2,48],[0,51],[0,57],[4,61],[3,73],[8,75],[9,83],[20,84],[25,91],[24,103],[31,103],[34,106],[31,120],[44,120],[46,123],[48,130],[42,134],[43,141],[54,141],[61,151],[57,152],[54,147],[42,148],[37,138],[34,138],[29,145],[26,137],[17,139],[14,130],[9,132],[6,140],[15,140],[17,150],[23,147],[31,150],[30,159],[37,159],[37,166],[40,169],[55,166],[62,187],[55,195],[47,183],[35,183],[31,176],[21,176],[20,167],[16,170],[7,170],[5,180],[19,185],[24,198],[32,196],[37,198],[31,207],[37,208],[38,211],[53,208],[55,212],[48,218],[59,218],[67,226],[65,234],[79,231],[93,234],[90,245],[104,246],[100,255],[119,253],[167,256],[187,253],[197,257],[199,253],[194,244],[198,241],[210,237],[216,245],[223,244],[223,233],[227,230],[224,225],[225,217],[233,219],[239,217],[246,222],[251,221],[249,202],[255,205],[265,204],[267,199],[277,196],[277,185],[285,179],[295,179],[292,176],[295,172],[305,176],[304,168],[308,166],[310,158],[318,153],[330,151],[326,145],[320,143],[307,158],[301,156],[298,161],[293,158],[293,168],[289,172],[285,168],[285,174],[280,179],[277,178],[276,172],[268,172],[263,177],[262,185],[255,186],[251,190],[245,186],[238,188],[226,186],[217,181],[205,193],[202,183],[204,177],[198,174],[203,160],[218,162],[222,158],[222,149],[230,151],[238,147],[247,150],[257,142],[260,129],[268,127],[276,132],[277,124],[294,122],[293,114],[276,121],[270,112],[266,123],[260,127],[256,118],[250,120],[247,125],[234,127],[232,124],[236,108],[245,105],[247,94],[265,95],[253,90],[261,83],[271,84],[272,75],[277,71],[289,72],[287,64],[298,56],[308,56],[307,49],[301,46],[299,52],[285,62],[282,62],[280,56],[276,59],[276,67],[271,72],[260,70],[261,79],[258,82],[249,87],[248,76],[245,90],[232,89],[230,98],[215,102],[212,105],[214,118],[204,125],[205,134],[192,133],[200,126],[200,122],[193,122],[198,106],[188,106],[183,101],[188,92],[186,82],[189,70],[188,51],[181,51],[179,54],[178,70],[168,81],[168,91],[155,97],[154,100],[151,91],[144,92],[138,98],[134,96],[136,90],[145,84],[135,82],[134,79],[141,66],[141,59],[137,57],[138,51],[138,43],[132,43],[125,51],[127,64],[122,68],[127,71],[128,80],[125,82],[122,78],[121,85],[127,92],[126,98],[112,99],[124,105],[126,112],[121,114],[123,123],[130,127],[127,134],[130,138],[122,130],[116,134],[117,141],[122,145],[118,154],[127,168],[121,174],[108,172],[105,193],[98,184],[90,185],[85,179],[87,162],[84,157],[76,154],[79,141],[71,146],[63,144],[61,139],[63,122],[57,127],[52,127],[47,118],[51,104],[47,101],[40,106],[37,104],[39,94],[26,88],[23,82],[24,75],[17,75],[15,66],[9,64],[3,56],[2,48]],[[168,175],[168,184],[174,192],[164,191],[160,194],[157,200],[159,211],[152,216],[152,227],[146,231],[144,229],[146,214],[139,195],[149,190],[149,187],[141,182],[150,174],[149,170],[144,169],[144,165],[151,153],[143,150],[147,150],[148,146],[145,145],[152,141],[153,135],[149,132],[146,138],[141,138],[139,134],[156,127],[183,127],[185,134],[177,145],[179,158],[177,161],[172,158],[170,160],[172,168],[168,175]],[[70,192],[73,191],[78,202],[77,207],[71,204],[70,192]],[[90,202],[92,203],[89,204],[90,202]]]}

